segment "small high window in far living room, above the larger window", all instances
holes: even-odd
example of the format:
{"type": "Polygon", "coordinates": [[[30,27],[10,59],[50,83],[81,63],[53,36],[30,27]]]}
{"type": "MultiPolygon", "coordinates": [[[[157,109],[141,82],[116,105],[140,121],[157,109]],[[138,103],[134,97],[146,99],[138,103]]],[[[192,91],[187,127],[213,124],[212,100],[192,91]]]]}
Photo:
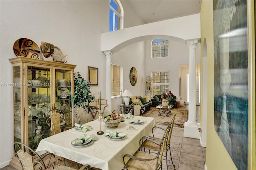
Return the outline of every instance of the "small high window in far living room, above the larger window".
{"type": "Polygon", "coordinates": [[[169,57],[169,40],[152,40],[152,58],[169,57]]]}

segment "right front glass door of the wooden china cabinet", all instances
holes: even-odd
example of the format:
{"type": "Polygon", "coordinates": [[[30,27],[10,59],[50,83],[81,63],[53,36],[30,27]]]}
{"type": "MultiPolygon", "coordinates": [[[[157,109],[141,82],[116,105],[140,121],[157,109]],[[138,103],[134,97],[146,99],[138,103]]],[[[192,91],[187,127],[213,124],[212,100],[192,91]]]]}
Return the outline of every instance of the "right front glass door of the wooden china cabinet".
{"type": "Polygon", "coordinates": [[[61,127],[72,127],[72,76],[71,70],[55,69],[55,107],[64,112],[61,127]]]}

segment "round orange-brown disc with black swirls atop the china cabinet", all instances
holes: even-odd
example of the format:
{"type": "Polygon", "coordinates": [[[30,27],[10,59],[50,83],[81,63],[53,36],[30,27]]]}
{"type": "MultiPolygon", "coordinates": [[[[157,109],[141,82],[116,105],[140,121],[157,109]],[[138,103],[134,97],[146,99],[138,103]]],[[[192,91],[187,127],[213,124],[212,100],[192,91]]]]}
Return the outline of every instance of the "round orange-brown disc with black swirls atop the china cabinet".
{"type": "Polygon", "coordinates": [[[41,50],[38,45],[28,38],[20,38],[13,45],[13,51],[16,56],[41,58],[41,50]]]}

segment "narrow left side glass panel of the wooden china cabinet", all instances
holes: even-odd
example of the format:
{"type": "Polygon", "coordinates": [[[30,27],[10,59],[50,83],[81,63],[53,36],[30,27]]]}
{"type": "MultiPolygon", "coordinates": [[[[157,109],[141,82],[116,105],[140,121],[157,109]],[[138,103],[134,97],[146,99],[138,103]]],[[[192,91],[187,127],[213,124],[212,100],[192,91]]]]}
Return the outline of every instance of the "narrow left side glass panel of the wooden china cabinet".
{"type": "Polygon", "coordinates": [[[14,142],[22,142],[22,106],[21,106],[21,69],[20,66],[13,67],[13,94],[14,94],[14,142]]]}

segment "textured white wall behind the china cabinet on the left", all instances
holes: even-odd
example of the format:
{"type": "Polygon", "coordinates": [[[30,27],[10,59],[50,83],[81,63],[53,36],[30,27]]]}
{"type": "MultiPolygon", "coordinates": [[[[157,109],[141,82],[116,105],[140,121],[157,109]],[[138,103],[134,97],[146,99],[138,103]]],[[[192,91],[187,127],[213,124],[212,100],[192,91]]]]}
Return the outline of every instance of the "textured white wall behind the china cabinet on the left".
{"type": "MultiPolygon", "coordinates": [[[[1,46],[0,83],[12,82],[10,58],[16,57],[13,44],[29,38],[38,45],[52,43],[68,55],[87,77],[87,67],[99,68],[99,85],[105,96],[106,57],[100,50],[101,33],[108,32],[109,1],[0,1],[1,46]]],[[[13,152],[12,87],[0,87],[0,167],[9,164],[13,152]]]]}

